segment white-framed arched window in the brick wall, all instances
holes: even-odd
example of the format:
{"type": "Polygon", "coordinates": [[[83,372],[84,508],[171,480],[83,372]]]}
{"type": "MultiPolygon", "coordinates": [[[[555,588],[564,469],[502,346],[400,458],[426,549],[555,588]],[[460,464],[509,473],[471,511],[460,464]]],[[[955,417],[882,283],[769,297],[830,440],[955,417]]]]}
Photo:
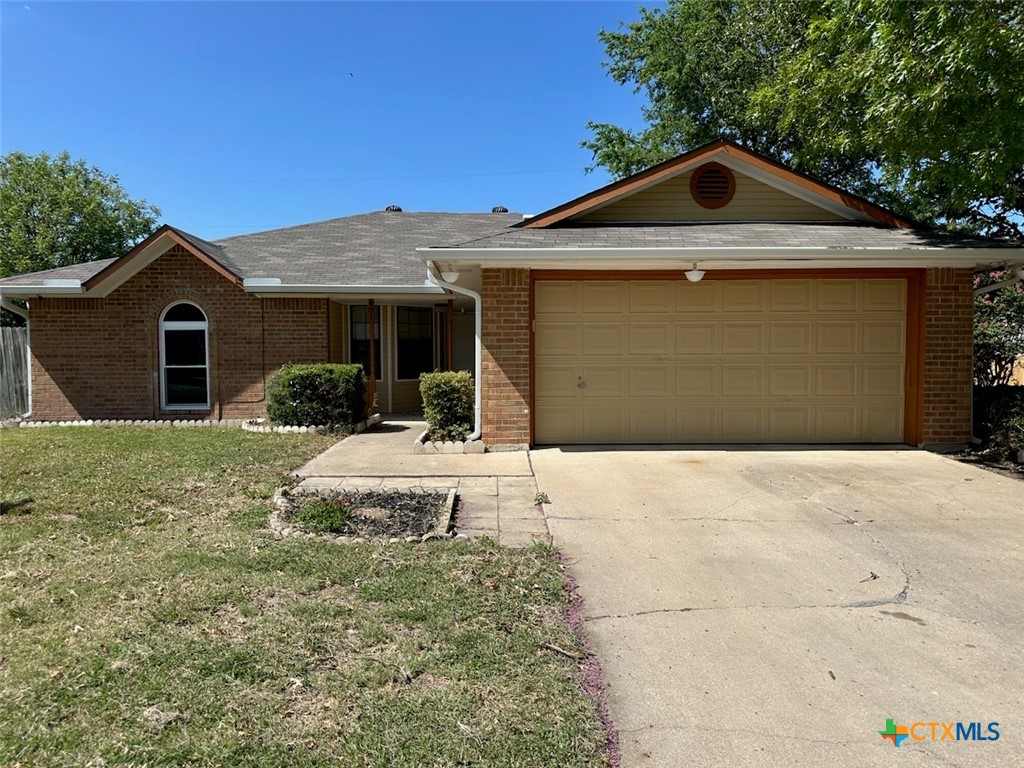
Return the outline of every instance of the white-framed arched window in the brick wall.
{"type": "Polygon", "coordinates": [[[210,407],[209,324],[195,304],[179,301],[160,318],[160,399],[166,409],[210,407]]]}

